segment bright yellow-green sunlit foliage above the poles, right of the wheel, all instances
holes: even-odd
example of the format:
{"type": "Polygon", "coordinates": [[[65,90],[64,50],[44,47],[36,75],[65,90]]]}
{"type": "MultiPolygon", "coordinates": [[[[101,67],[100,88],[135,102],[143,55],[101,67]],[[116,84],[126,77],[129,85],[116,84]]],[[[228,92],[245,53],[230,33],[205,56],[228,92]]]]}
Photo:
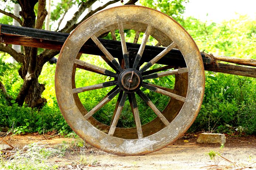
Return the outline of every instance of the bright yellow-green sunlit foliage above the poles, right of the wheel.
{"type": "Polygon", "coordinates": [[[256,59],[256,19],[238,15],[221,24],[187,18],[181,25],[190,33],[201,51],[222,56],[256,59]]]}

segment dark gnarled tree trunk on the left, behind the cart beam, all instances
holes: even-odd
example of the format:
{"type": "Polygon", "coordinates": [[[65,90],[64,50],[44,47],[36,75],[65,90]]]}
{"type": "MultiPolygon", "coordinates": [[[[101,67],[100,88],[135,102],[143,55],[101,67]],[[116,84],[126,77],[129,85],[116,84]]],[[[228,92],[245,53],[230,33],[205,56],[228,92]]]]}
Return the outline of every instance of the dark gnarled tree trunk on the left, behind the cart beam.
{"type": "MultiPolygon", "coordinates": [[[[47,12],[45,12],[45,0],[40,1],[40,5],[38,5],[37,23],[35,23],[34,12],[34,6],[37,1],[18,1],[21,6],[20,15],[23,18],[22,26],[42,28],[43,22],[41,21],[44,21],[47,12]]],[[[38,77],[41,74],[44,63],[38,62],[38,60],[40,58],[37,56],[37,48],[24,47],[23,65],[19,70],[19,74],[24,82],[16,98],[16,102],[20,106],[25,102],[28,107],[40,108],[46,103],[46,99],[41,97],[45,89],[44,85],[38,82],[38,77]]]]}

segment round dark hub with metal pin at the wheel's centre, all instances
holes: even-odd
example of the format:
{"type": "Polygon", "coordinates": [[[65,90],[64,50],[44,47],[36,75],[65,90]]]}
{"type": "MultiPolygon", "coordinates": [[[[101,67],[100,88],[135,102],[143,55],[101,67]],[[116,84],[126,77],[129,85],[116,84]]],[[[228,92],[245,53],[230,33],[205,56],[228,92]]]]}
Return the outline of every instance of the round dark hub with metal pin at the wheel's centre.
{"type": "Polygon", "coordinates": [[[142,75],[139,71],[128,68],[119,74],[118,84],[124,92],[136,92],[141,87],[142,75]]]}

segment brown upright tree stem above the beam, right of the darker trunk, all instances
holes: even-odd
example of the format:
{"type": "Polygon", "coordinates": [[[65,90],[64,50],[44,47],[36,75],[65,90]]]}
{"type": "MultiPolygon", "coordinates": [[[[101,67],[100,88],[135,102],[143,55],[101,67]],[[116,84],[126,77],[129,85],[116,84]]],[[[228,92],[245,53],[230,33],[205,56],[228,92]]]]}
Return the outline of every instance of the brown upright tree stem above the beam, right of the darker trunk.
{"type": "Polygon", "coordinates": [[[35,24],[35,28],[37,28],[37,29],[42,29],[45,17],[48,14],[47,10],[45,9],[45,5],[46,5],[46,0],[38,1],[37,22],[35,24]]]}

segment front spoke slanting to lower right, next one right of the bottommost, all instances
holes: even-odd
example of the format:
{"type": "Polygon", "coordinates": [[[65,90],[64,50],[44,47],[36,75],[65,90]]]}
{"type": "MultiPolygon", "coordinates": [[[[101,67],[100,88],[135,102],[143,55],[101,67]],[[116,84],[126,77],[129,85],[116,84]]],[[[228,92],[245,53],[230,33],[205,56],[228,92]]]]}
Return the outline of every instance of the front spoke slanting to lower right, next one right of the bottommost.
{"type": "Polygon", "coordinates": [[[164,115],[161,113],[161,111],[157,109],[157,107],[141,90],[138,90],[136,93],[140,96],[141,99],[143,99],[147,103],[147,105],[149,105],[149,107],[154,111],[154,113],[156,113],[156,115],[161,119],[165,126],[168,126],[170,124],[168,120],[164,117],[164,115]]]}

